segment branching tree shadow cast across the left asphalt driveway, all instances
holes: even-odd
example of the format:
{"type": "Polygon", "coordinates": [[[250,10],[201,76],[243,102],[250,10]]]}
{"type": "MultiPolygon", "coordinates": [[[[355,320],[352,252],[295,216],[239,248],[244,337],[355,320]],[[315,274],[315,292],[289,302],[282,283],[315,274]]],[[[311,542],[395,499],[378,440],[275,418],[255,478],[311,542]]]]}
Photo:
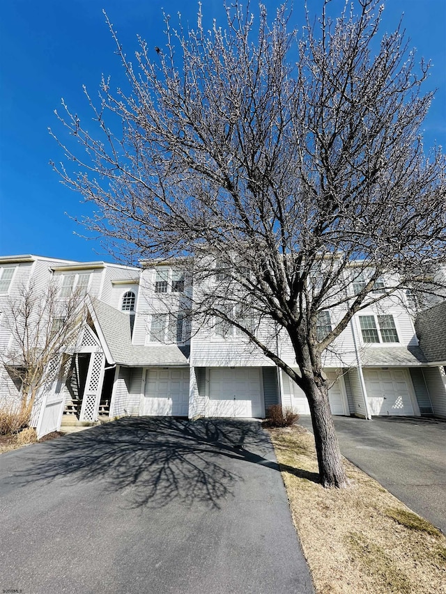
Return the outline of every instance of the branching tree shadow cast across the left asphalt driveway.
{"type": "Polygon", "coordinates": [[[14,473],[15,483],[94,480],[107,492],[131,489],[132,507],[158,508],[178,499],[218,508],[243,480],[233,462],[279,471],[268,459],[274,458],[272,445],[260,423],[238,419],[125,418],[28,453],[29,465],[14,473]]]}

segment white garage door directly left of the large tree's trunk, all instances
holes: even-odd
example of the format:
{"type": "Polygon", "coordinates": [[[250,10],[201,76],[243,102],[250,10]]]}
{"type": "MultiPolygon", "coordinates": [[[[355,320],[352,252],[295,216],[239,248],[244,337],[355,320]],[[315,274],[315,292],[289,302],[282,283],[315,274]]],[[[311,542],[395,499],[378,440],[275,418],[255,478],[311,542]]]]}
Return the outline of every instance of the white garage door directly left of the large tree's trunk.
{"type": "Polygon", "coordinates": [[[210,368],[208,416],[264,416],[260,369],[210,368]]]}

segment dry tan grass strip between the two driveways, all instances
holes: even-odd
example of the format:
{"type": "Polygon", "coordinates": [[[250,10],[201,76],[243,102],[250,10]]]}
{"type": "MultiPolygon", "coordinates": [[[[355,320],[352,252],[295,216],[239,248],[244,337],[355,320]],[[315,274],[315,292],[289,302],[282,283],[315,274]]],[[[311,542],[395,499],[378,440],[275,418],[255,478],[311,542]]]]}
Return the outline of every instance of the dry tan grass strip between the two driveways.
{"type": "Polygon", "coordinates": [[[352,486],[323,489],[314,437],[270,430],[316,593],[446,593],[446,538],[344,460],[352,486]]]}

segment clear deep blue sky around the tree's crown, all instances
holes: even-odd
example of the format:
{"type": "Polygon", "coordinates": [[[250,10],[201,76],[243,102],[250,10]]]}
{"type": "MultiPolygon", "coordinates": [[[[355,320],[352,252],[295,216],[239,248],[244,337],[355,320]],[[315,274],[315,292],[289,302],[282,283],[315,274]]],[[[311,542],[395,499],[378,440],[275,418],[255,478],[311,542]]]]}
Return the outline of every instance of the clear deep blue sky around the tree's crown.
{"type": "MultiPolygon", "coordinates": [[[[266,0],[271,14],[280,1],[266,0]]],[[[342,6],[341,0],[334,4],[342,6]]],[[[308,0],[316,13],[322,0],[308,0]]],[[[202,0],[205,23],[224,24],[222,0],[202,0]]],[[[0,255],[36,253],[75,260],[111,260],[98,240],[85,240],[65,213],[82,215],[82,196],[61,185],[48,162],[63,160],[47,132],[57,127],[54,109],[61,97],[89,117],[82,85],[97,91],[102,72],[122,75],[114,42],[102,14],[107,11],[127,54],[137,34],[149,47],[163,44],[162,7],[176,21],[196,21],[193,0],[5,0],[0,18],[0,255]]],[[[300,24],[303,0],[294,0],[292,22],[300,24]],[[298,10],[299,9],[299,10],[298,10]]],[[[252,3],[255,12],[256,2],[252,3]]],[[[387,0],[383,31],[401,13],[417,56],[431,59],[426,91],[438,88],[424,125],[426,146],[446,147],[446,0],[387,0]]]]}

